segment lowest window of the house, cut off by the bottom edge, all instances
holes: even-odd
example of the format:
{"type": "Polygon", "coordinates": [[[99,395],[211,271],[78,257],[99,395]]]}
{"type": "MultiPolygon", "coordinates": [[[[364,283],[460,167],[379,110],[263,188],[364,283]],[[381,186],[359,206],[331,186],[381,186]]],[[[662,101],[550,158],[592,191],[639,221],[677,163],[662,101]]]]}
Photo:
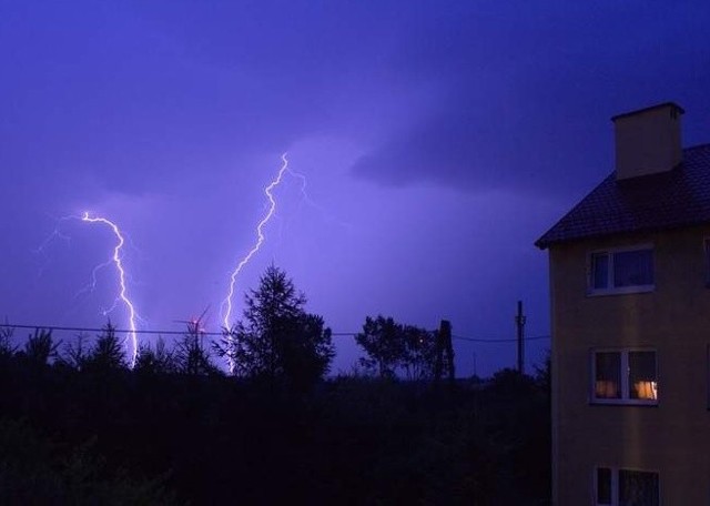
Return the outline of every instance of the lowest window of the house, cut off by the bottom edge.
{"type": "Polygon", "coordinates": [[[659,484],[658,473],[597,467],[595,504],[597,506],[658,506],[660,504],[659,484]]]}

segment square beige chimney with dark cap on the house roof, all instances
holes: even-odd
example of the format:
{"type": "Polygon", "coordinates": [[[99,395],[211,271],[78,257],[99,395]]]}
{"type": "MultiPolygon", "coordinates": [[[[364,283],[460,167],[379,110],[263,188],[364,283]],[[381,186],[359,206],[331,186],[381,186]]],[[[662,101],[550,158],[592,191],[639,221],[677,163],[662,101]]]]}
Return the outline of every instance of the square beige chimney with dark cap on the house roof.
{"type": "Polygon", "coordinates": [[[681,162],[683,112],[678,104],[666,102],[611,118],[617,180],[670,171],[681,162]]]}

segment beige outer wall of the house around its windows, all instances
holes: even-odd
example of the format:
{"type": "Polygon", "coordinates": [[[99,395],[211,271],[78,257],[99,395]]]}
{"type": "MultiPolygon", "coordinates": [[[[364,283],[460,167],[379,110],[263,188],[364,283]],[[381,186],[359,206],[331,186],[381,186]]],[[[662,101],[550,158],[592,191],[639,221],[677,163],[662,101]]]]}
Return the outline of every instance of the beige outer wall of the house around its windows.
{"type": "Polygon", "coordinates": [[[710,226],[550,247],[554,500],[594,504],[597,466],[656,470],[661,504],[710,504],[710,226]],[[589,253],[652,244],[655,291],[588,295],[589,253]],[[657,351],[658,405],[591,403],[591,351],[657,351]]]}

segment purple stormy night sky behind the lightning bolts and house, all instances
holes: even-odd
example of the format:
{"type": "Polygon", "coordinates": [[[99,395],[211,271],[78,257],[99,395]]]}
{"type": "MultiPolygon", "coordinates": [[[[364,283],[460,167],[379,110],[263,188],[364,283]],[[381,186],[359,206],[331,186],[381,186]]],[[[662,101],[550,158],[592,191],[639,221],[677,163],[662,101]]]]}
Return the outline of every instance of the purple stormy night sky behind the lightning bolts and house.
{"type": "MultiPolygon", "coordinates": [[[[334,332],[382,313],[509,338],[523,300],[527,335],[547,335],[532,243],[613,169],[610,117],[672,100],[683,144],[710,142],[707,0],[0,0],[0,317],[16,324],[105,322],[114,272],[83,289],[114,239],[58,220],[90,211],[130,236],[141,328],[210,306],[219,331],[288,152],[312,203],[297,178],[275,190],[237,315],[273,262],[334,332]]],[[[126,327],[122,306],[111,318],[126,327]]],[[[353,338],[335,340],[347,372],[353,338]]],[[[462,376],[515,364],[514,343],[454,345],[462,376]]],[[[528,367],[548,346],[528,343],[528,367]]]]}

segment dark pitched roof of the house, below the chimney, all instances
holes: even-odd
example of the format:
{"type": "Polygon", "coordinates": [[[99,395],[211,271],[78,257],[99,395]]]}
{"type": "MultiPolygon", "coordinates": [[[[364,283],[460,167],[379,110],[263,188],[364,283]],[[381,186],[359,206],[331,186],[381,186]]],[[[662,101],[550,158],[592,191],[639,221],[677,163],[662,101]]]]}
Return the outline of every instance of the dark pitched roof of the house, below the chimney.
{"type": "Polygon", "coordinates": [[[683,150],[676,169],[617,181],[612,172],[535,243],[710,222],[710,144],[683,150]]]}

